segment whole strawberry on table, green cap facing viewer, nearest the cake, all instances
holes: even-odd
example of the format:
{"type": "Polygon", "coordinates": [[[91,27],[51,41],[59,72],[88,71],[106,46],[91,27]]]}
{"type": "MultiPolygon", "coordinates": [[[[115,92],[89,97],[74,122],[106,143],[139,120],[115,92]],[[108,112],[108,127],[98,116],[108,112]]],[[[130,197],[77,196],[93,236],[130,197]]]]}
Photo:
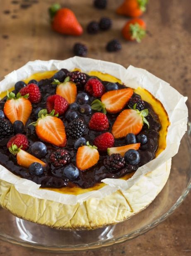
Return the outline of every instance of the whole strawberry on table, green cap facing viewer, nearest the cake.
{"type": "Polygon", "coordinates": [[[122,29],[122,35],[126,40],[141,42],[146,35],[145,22],[138,18],[129,20],[122,29]]]}

